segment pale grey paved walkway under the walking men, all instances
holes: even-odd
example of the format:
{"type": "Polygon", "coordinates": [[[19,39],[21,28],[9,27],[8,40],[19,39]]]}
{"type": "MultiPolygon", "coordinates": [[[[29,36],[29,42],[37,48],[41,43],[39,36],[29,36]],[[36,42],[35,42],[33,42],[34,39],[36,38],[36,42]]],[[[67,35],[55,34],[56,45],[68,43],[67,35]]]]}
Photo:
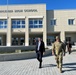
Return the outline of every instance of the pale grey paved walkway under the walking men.
{"type": "Polygon", "coordinates": [[[54,56],[43,57],[43,68],[38,68],[36,59],[1,61],[0,75],[76,75],[76,52],[66,54],[63,73],[56,67],[54,56]]]}

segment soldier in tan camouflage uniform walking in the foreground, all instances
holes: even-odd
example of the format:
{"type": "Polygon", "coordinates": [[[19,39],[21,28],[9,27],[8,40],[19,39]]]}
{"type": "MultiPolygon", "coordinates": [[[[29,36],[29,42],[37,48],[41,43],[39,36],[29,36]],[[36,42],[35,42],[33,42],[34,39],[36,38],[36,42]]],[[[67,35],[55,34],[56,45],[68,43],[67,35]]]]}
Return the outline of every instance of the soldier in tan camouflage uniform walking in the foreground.
{"type": "Polygon", "coordinates": [[[53,43],[52,54],[55,55],[57,67],[60,69],[61,73],[62,73],[63,52],[65,56],[64,43],[61,42],[59,36],[56,36],[56,41],[53,43]]]}

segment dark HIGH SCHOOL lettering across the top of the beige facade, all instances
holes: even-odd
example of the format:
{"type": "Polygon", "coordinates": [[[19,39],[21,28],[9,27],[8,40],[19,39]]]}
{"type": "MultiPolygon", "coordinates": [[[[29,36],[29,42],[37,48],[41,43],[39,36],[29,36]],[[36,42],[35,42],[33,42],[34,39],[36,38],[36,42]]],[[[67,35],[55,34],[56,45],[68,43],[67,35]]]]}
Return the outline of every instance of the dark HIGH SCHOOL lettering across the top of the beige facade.
{"type": "Polygon", "coordinates": [[[20,12],[38,12],[37,9],[24,9],[24,10],[0,10],[0,13],[20,13],[20,12]]]}

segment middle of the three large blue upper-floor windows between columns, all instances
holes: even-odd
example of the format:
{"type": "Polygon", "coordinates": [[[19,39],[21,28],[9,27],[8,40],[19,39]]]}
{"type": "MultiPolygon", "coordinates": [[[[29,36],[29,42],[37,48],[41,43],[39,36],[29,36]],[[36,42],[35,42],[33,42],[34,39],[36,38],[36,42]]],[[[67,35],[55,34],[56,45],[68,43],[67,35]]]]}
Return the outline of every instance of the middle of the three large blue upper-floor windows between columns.
{"type": "Polygon", "coordinates": [[[12,20],[12,28],[25,28],[25,20],[12,20]]]}

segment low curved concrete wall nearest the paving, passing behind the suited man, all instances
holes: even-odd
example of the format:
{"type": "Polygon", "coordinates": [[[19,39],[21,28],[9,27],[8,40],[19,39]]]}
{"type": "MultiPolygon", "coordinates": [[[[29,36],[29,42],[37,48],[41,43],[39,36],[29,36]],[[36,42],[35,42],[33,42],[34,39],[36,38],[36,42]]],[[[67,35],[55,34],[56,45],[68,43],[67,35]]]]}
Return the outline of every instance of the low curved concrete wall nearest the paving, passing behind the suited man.
{"type": "MultiPolygon", "coordinates": [[[[50,55],[51,50],[46,50],[44,56],[50,55]]],[[[0,54],[0,61],[10,61],[10,60],[22,60],[36,58],[35,51],[29,51],[24,53],[13,53],[13,54],[0,54]]]]}

